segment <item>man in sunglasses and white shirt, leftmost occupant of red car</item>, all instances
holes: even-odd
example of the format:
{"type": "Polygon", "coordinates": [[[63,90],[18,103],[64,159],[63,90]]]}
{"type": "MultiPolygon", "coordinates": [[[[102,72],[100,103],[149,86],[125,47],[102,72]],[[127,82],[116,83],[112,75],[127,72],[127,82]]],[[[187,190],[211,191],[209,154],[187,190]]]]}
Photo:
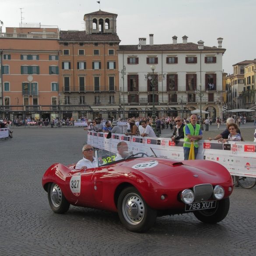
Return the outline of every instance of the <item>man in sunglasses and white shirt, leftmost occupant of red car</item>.
{"type": "Polygon", "coordinates": [[[76,164],[76,170],[87,169],[96,167],[96,158],[94,157],[94,149],[91,145],[84,145],[82,148],[83,159],[79,160],[76,164]]]}

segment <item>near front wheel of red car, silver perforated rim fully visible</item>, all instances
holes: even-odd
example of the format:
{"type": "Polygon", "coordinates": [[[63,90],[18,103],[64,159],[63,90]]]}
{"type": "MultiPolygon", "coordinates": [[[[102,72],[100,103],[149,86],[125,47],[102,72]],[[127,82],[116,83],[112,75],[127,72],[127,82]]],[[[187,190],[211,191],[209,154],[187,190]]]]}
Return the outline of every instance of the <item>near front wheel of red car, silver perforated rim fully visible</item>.
{"type": "Polygon", "coordinates": [[[149,230],[157,217],[157,211],[147,205],[134,187],[123,189],[118,198],[117,208],[120,221],[133,232],[149,230]]]}

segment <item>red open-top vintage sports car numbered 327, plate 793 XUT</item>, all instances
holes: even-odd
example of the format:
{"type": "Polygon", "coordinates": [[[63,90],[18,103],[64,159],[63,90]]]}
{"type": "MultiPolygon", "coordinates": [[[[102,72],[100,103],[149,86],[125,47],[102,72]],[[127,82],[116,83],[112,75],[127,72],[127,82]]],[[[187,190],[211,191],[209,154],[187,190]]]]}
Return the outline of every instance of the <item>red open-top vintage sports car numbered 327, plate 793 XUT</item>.
{"type": "Polygon", "coordinates": [[[206,160],[174,161],[95,151],[98,167],[75,170],[51,165],[42,178],[52,210],[62,214],[70,204],[118,212],[130,231],[144,232],[157,216],[193,212],[205,223],[222,221],[229,210],[233,182],[222,165],[206,160]]]}

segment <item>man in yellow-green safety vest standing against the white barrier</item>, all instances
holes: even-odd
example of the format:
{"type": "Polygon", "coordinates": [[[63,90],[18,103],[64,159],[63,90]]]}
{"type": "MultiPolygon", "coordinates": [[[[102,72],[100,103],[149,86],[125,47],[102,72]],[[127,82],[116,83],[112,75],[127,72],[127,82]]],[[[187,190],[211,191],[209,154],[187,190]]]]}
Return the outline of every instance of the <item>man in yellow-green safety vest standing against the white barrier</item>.
{"type": "Polygon", "coordinates": [[[184,127],[184,143],[183,143],[183,150],[184,150],[184,160],[189,159],[189,151],[191,147],[191,142],[194,144],[194,151],[195,151],[195,159],[198,153],[198,140],[202,140],[203,133],[200,129],[200,124],[197,124],[197,116],[191,115],[190,116],[190,123],[188,123],[184,127]]]}

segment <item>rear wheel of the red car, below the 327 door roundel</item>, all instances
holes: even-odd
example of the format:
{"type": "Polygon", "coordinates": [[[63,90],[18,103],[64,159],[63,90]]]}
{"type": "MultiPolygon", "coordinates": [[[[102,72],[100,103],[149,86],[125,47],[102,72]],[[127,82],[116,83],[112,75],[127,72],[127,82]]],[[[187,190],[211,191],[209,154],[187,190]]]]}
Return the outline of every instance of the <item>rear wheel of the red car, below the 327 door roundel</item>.
{"type": "Polygon", "coordinates": [[[58,214],[67,212],[70,207],[70,203],[56,183],[51,183],[48,186],[48,200],[52,210],[58,214]]]}

